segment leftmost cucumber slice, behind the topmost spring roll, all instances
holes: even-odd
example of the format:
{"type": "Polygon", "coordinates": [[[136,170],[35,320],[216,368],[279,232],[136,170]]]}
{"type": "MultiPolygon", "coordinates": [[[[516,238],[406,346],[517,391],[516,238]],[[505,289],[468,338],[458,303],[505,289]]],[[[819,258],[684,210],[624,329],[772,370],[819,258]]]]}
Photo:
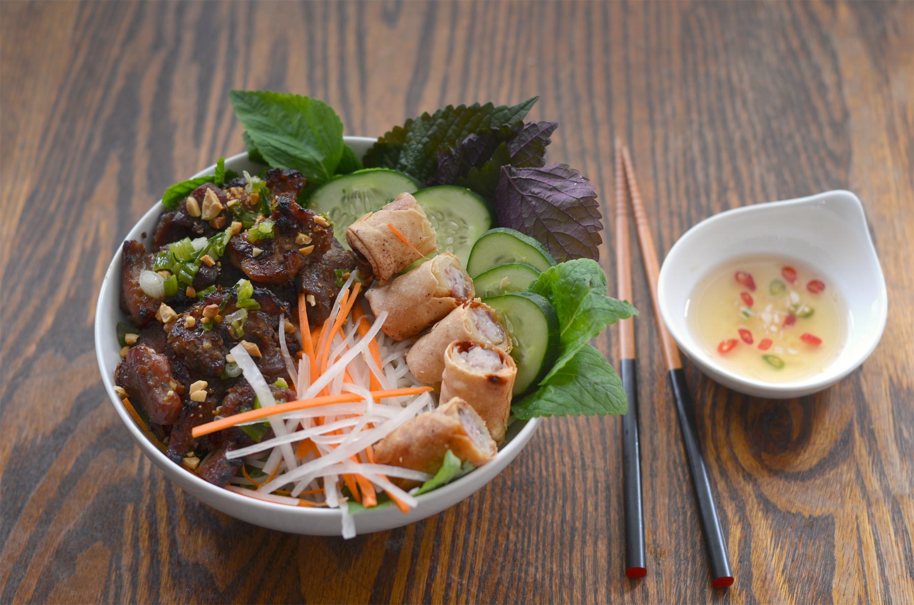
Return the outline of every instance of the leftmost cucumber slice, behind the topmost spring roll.
{"type": "Polygon", "coordinates": [[[314,189],[308,207],[324,212],[334,221],[334,236],[349,249],[345,230],[358,218],[379,210],[401,193],[415,193],[419,182],[388,168],[366,168],[351,175],[337,176],[314,189]]]}

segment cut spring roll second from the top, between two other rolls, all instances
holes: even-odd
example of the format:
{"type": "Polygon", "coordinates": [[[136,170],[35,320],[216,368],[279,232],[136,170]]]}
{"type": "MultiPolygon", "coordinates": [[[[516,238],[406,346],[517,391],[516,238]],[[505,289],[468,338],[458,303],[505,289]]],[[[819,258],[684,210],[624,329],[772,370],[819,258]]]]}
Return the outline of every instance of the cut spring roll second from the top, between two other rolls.
{"type": "Polygon", "coordinates": [[[460,259],[442,252],[409,273],[369,289],[365,297],[375,317],[388,312],[381,326],[384,334],[404,340],[472,300],[474,294],[473,280],[463,271],[460,259]]]}

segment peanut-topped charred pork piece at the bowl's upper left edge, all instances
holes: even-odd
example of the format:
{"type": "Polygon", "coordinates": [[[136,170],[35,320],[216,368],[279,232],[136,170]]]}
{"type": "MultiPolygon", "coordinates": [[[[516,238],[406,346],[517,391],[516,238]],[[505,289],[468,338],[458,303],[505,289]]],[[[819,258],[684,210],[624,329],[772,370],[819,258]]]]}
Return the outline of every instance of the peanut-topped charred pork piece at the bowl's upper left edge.
{"type": "Polygon", "coordinates": [[[153,231],[153,246],[162,249],[178,239],[211,238],[228,227],[228,195],[218,186],[205,183],[194,189],[175,210],[159,217],[153,231]]]}

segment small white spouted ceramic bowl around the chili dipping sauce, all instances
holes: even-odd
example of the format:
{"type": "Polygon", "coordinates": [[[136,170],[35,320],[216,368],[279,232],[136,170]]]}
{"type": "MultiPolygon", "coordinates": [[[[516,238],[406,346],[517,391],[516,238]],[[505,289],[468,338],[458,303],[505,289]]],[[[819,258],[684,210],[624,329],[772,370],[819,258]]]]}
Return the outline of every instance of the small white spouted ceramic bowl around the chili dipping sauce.
{"type": "Polygon", "coordinates": [[[657,296],[664,323],[696,366],[725,387],[760,398],[802,397],[850,374],[876,348],[888,306],[863,205],[849,191],[736,208],[701,221],[666,255],[657,296]],[[847,342],[827,371],[780,384],[742,377],[720,366],[689,330],[685,303],[696,281],[728,260],[756,254],[808,262],[842,293],[850,315],[847,342]]]}

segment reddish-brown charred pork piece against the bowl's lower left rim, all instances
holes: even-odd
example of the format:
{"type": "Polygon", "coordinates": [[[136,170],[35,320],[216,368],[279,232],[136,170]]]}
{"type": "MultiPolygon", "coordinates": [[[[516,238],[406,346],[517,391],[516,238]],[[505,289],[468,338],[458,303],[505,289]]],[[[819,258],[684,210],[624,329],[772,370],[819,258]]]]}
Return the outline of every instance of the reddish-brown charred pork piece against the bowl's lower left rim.
{"type": "Polygon", "coordinates": [[[181,415],[184,387],[172,377],[165,356],[152,348],[130,347],[117,366],[114,381],[140,404],[154,423],[172,424],[181,415]]]}

